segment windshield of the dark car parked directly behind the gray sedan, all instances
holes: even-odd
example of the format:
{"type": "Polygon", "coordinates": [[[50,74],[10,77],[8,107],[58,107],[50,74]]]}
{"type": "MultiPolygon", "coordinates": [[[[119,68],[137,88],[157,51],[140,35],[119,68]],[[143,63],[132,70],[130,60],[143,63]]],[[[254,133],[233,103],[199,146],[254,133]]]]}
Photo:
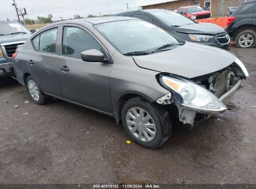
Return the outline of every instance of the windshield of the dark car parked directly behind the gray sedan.
{"type": "Polygon", "coordinates": [[[164,22],[164,24],[167,24],[170,26],[177,27],[181,25],[194,24],[194,22],[188,19],[187,17],[184,17],[173,11],[158,11],[158,12],[152,12],[151,14],[153,14],[159,20],[164,22]]]}

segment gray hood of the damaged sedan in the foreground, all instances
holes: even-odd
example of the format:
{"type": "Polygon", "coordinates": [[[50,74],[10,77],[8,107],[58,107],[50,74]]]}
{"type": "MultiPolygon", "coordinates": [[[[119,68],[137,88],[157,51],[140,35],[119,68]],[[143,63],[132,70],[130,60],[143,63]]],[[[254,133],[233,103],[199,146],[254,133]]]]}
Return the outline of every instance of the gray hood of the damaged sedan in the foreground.
{"type": "Polygon", "coordinates": [[[186,42],[172,50],[134,56],[141,68],[168,72],[186,78],[221,70],[235,61],[235,55],[220,48],[186,42]]]}

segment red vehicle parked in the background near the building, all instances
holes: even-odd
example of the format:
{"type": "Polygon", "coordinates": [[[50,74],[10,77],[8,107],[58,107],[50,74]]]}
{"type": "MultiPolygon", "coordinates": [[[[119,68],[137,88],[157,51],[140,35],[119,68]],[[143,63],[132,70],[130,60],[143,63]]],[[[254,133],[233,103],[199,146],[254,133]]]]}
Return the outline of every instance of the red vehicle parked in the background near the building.
{"type": "Polygon", "coordinates": [[[186,6],[186,7],[179,7],[177,12],[182,14],[183,16],[188,17],[189,19],[196,20],[196,19],[207,19],[211,17],[211,11],[204,11],[199,6],[186,6]]]}

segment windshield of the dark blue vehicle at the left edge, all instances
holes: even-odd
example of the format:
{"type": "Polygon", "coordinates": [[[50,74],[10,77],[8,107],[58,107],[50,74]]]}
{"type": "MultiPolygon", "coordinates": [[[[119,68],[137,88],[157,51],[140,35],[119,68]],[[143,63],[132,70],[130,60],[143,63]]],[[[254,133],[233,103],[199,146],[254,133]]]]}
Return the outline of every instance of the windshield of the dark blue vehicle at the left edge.
{"type": "Polygon", "coordinates": [[[9,35],[17,32],[29,34],[29,31],[17,22],[0,22],[0,35],[9,35]]]}

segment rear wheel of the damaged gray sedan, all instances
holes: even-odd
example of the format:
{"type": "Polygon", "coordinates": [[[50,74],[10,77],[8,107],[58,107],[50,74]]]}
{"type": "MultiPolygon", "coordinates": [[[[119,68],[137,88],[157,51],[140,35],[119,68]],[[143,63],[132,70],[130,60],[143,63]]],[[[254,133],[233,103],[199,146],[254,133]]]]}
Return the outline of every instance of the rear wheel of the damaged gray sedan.
{"type": "Polygon", "coordinates": [[[39,84],[37,83],[36,79],[32,76],[27,77],[26,81],[26,88],[28,93],[30,94],[32,100],[39,105],[45,104],[47,100],[49,99],[48,96],[46,96],[42,90],[40,90],[39,84]],[[33,88],[33,85],[36,86],[36,88],[33,88]],[[32,88],[31,88],[32,86],[32,88]],[[34,93],[32,92],[34,91],[34,93]]]}

